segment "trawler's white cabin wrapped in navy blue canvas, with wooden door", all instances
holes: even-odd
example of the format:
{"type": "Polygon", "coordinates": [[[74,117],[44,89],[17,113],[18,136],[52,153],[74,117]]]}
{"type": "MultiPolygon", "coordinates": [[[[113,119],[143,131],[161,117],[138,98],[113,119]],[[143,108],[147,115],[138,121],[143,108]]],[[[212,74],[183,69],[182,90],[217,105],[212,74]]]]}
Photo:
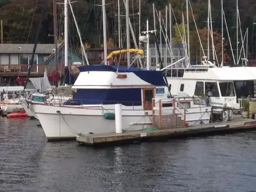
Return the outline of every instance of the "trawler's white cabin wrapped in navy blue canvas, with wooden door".
{"type": "Polygon", "coordinates": [[[152,98],[166,97],[162,72],[127,66],[82,66],[72,89],[74,99],[66,105],[143,106],[152,110],[152,98]]]}

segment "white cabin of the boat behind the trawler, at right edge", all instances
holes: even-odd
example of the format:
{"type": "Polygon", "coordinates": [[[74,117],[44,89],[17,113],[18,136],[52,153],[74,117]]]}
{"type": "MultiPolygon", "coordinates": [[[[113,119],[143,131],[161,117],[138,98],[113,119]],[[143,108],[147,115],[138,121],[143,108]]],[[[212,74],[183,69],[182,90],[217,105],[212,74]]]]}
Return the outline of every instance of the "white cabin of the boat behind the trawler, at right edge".
{"type": "Polygon", "coordinates": [[[191,67],[166,71],[169,89],[176,95],[208,96],[210,105],[239,109],[238,99],[254,96],[254,67],[191,67]]]}

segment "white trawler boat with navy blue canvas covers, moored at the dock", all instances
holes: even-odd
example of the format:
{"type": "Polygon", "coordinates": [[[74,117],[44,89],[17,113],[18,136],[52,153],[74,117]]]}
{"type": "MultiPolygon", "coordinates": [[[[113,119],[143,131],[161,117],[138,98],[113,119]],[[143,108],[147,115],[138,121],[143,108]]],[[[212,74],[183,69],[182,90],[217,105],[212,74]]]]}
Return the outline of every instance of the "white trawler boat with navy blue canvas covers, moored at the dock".
{"type": "MultiPolygon", "coordinates": [[[[152,126],[153,105],[157,105],[152,99],[167,99],[166,83],[159,71],[106,65],[83,66],[79,70],[72,86],[76,89],[75,99],[64,106],[53,106],[43,102],[42,95],[41,104],[32,104],[48,141],[75,139],[78,133],[114,132],[113,113],[117,103],[122,104],[123,130],[142,130],[152,126]]],[[[186,108],[189,125],[209,123],[209,106],[180,99],[175,108],[181,118],[186,108]]],[[[163,102],[163,112],[172,113],[173,109],[172,99],[163,102]]]]}

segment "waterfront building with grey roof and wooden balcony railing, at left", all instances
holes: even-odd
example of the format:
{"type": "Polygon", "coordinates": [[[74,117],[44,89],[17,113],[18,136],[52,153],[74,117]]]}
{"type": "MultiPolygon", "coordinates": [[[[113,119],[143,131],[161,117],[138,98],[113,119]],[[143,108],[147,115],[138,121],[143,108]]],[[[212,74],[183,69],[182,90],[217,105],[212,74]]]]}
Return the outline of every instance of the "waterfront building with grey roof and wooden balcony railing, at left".
{"type": "MultiPolygon", "coordinates": [[[[0,86],[16,85],[17,78],[25,78],[28,73],[28,65],[31,62],[34,44],[0,44],[0,86]]],[[[58,44],[58,66],[55,65],[54,44],[37,44],[31,77],[42,77],[45,67],[51,73],[58,67],[60,74],[64,72],[64,44],[58,44]]],[[[82,63],[82,56],[69,49],[69,66],[82,63]]]]}

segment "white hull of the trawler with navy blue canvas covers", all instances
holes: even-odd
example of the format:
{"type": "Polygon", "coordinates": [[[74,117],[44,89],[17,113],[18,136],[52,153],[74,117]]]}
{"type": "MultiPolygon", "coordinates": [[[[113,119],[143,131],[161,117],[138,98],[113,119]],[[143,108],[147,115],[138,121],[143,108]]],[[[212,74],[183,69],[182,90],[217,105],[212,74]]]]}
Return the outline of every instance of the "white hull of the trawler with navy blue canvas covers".
{"type": "MultiPolygon", "coordinates": [[[[32,104],[40,124],[48,141],[76,139],[76,134],[100,134],[115,132],[115,120],[107,120],[103,117],[106,112],[114,113],[114,105],[102,107],[74,107],[74,106],[49,106],[32,104]],[[105,108],[108,108],[106,110],[105,108]]],[[[142,110],[142,106],[134,106],[131,109],[122,106],[122,125],[124,131],[142,130],[152,126],[152,110],[142,110]],[[146,115],[145,115],[146,114],[146,115]]],[[[208,124],[211,107],[191,108],[186,114],[186,120],[190,125],[200,123],[208,124]],[[197,113],[193,110],[197,109],[197,113]],[[201,118],[201,119],[200,119],[201,118]]],[[[169,110],[170,111],[170,110],[169,110]]]]}

